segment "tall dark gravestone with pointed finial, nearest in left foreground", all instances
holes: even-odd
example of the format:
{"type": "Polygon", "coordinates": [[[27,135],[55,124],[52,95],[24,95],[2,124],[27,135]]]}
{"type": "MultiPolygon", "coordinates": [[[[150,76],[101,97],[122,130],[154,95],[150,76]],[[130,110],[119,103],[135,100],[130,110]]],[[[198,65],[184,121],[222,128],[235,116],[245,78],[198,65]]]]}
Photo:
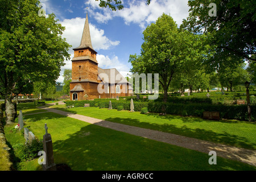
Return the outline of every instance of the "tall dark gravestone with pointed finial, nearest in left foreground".
{"type": "Polygon", "coordinates": [[[43,164],[43,170],[56,171],[56,164],[53,159],[52,137],[51,134],[48,133],[47,124],[44,125],[44,129],[46,129],[46,134],[43,136],[44,152],[46,152],[46,164],[43,164]]]}

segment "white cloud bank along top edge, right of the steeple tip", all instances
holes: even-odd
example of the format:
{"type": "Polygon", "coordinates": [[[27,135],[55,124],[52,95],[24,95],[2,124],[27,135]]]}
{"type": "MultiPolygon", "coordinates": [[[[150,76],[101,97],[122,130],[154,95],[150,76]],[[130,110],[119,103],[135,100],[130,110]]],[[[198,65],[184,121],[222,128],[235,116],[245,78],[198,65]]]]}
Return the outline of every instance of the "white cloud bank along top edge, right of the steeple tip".
{"type": "Polygon", "coordinates": [[[120,11],[103,9],[98,4],[99,2],[95,0],[85,2],[89,13],[94,16],[98,23],[107,23],[114,17],[121,17],[126,24],[135,23],[142,29],[155,22],[163,13],[170,14],[180,26],[182,20],[187,18],[189,10],[187,0],[152,0],[150,5],[146,5],[146,1],[128,1],[127,6],[120,11]]]}

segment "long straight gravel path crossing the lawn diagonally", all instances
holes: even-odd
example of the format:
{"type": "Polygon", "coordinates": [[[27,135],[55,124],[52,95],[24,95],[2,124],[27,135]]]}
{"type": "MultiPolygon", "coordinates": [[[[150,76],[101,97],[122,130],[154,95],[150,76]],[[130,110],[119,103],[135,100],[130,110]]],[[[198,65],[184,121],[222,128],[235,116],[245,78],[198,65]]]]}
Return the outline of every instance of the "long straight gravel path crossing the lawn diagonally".
{"type": "Polygon", "coordinates": [[[173,144],[175,146],[189,148],[191,150],[204,152],[206,154],[209,154],[210,151],[216,151],[217,156],[221,156],[222,158],[238,160],[240,162],[248,163],[250,165],[256,166],[255,150],[247,150],[245,148],[238,148],[233,146],[227,146],[224,144],[217,144],[217,143],[213,143],[205,140],[183,137],[180,135],[175,135],[170,133],[164,133],[162,131],[143,129],[141,127],[128,126],[120,123],[103,121],[101,119],[86,117],[80,114],[73,114],[73,113],[68,113],[61,110],[51,109],[46,106],[42,106],[40,108],[50,111],[52,113],[65,115],[66,117],[79,119],[81,121],[88,122],[93,125],[98,125],[98,126],[106,127],[113,130],[122,131],[132,135],[137,135],[139,137],[157,140],[159,142],[173,144]]]}

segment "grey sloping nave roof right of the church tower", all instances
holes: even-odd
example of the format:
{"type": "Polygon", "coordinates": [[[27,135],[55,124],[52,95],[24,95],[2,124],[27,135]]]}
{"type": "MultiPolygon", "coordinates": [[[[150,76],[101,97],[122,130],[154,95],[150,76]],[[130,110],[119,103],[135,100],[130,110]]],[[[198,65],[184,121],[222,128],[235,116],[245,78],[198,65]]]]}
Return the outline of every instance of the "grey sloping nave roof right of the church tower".
{"type": "MultiPolygon", "coordinates": [[[[100,79],[105,83],[115,83],[115,84],[127,84],[129,83],[125,77],[121,75],[115,68],[110,68],[110,69],[102,69],[98,67],[98,76],[100,79]],[[101,73],[105,73],[106,77],[104,75],[100,75],[101,73]],[[114,79],[112,80],[112,77],[114,76],[114,79]],[[104,79],[102,79],[104,78],[104,79]]],[[[130,84],[130,83],[129,83],[130,84]]]]}

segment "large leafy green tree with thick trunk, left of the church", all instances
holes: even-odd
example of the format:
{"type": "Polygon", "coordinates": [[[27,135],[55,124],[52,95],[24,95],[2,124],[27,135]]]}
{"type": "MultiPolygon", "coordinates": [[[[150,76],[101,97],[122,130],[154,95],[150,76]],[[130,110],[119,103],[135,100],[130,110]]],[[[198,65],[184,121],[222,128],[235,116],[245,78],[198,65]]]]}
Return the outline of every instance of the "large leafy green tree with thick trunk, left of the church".
{"type": "Polygon", "coordinates": [[[55,84],[71,46],[61,38],[65,28],[54,14],[38,15],[39,1],[0,0],[0,4],[0,94],[5,97],[6,123],[11,123],[12,98],[35,81],[55,84]]]}

